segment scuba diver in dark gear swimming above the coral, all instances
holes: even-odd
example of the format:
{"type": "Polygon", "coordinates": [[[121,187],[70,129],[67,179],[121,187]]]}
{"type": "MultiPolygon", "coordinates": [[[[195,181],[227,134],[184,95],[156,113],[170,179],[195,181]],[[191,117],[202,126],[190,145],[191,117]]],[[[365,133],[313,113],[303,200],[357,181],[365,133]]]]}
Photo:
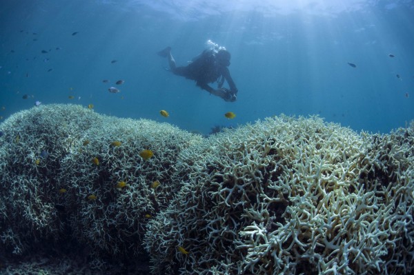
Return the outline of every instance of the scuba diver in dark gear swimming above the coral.
{"type": "Polygon", "coordinates": [[[228,66],[230,65],[230,52],[224,48],[208,49],[201,52],[186,66],[177,67],[171,55],[171,47],[157,52],[160,57],[167,57],[170,71],[186,79],[193,79],[201,89],[221,97],[224,101],[234,102],[237,99],[237,88],[230,76],[228,66]],[[224,80],[230,86],[230,90],[223,88],[224,80]],[[217,89],[213,89],[208,83],[217,81],[217,89]]]}

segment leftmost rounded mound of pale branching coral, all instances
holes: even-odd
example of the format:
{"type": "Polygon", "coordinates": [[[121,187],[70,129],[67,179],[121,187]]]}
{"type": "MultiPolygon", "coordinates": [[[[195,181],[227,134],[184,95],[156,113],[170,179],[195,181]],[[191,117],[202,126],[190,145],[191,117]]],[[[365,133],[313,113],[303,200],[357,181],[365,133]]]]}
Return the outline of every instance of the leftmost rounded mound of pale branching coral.
{"type": "Polygon", "coordinates": [[[21,254],[32,243],[63,238],[62,221],[55,209],[55,185],[60,160],[79,130],[94,123],[79,119],[83,108],[41,106],[14,114],[1,123],[0,234],[12,232],[3,247],[21,254]],[[75,112],[74,112],[75,111],[75,112]],[[78,112],[79,111],[79,112],[78,112]]]}

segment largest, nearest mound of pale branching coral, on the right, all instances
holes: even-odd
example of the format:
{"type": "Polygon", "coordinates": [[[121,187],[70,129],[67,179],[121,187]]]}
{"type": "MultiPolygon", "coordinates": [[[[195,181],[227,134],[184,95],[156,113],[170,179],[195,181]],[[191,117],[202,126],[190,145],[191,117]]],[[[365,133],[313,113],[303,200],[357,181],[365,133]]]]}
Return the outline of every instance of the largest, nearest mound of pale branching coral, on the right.
{"type": "Polygon", "coordinates": [[[394,139],[283,116],[212,136],[150,222],[152,274],[408,274],[413,137],[394,139]]]}

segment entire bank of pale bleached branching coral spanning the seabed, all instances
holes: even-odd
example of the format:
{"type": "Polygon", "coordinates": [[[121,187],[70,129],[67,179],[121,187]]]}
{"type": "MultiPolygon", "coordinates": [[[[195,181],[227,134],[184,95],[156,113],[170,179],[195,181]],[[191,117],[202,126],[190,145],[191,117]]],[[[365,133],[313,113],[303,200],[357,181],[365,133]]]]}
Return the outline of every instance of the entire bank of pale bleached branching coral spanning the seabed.
{"type": "Polygon", "coordinates": [[[152,274],[413,272],[414,123],[279,116],[206,139],[42,107],[0,125],[2,254],[70,238],[95,269],[146,254],[152,274]]]}

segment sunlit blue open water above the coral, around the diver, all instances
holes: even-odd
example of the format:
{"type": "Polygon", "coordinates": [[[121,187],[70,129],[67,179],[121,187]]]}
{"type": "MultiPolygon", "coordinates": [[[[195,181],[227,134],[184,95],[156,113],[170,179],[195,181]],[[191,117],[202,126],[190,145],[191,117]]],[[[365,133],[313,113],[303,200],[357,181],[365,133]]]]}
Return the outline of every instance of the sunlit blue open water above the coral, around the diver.
{"type": "Polygon", "coordinates": [[[0,116],[35,101],[93,104],[204,134],[282,113],[368,132],[414,119],[414,1],[254,2],[1,0],[0,116]],[[208,39],[232,54],[235,103],[164,70],[155,54],[170,45],[186,65],[208,39]]]}

